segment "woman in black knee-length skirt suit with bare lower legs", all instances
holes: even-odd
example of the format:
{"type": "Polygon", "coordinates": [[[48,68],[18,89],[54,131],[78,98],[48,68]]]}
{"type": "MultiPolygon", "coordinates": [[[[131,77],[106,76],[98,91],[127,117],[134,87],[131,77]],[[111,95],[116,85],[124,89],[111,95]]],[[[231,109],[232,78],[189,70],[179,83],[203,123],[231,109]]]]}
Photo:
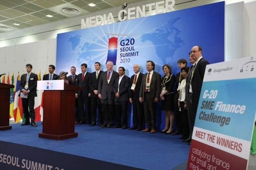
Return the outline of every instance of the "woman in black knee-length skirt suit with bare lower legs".
{"type": "Polygon", "coordinates": [[[171,134],[173,132],[173,120],[174,120],[174,85],[175,75],[171,74],[171,67],[169,65],[163,65],[163,76],[161,80],[162,90],[160,98],[162,100],[162,110],[165,112],[165,128],[161,133],[171,134]]]}

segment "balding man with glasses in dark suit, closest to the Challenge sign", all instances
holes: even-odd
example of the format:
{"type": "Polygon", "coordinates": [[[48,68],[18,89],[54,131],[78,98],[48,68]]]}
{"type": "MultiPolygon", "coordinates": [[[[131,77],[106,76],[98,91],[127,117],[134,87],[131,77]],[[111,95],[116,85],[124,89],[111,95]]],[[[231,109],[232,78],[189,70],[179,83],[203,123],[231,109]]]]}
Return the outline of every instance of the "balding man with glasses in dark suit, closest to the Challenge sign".
{"type": "MultiPolygon", "coordinates": [[[[192,110],[191,110],[191,116],[192,116],[192,125],[194,125],[195,122],[195,116],[197,114],[197,107],[200,97],[200,92],[203,84],[203,77],[205,75],[205,68],[206,65],[209,64],[209,62],[202,57],[202,48],[198,45],[193,46],[193,48],[190,51],[192,59],[195,60],[195,66],[191,72],[191,78],[190,78],[190,88],[189,93],[192,93],[192,110]]],[[[193,133],[193,130],[191,131],[193,133]]],[[[186,142],[190,143],[191,138],[188,139],[186,142]]]]}

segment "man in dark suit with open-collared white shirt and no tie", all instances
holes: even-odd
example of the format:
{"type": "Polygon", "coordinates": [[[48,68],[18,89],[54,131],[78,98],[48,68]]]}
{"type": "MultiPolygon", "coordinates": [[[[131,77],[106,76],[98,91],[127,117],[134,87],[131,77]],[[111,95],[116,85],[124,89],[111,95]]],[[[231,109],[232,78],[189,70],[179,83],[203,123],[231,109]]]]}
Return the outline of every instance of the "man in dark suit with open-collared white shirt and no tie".
{"type": "Polygon", "coordinates": [[[118,74],[119,78],[115,79],[113,87],[117,125],[112,128],[120,128],[122,124],[122,129],[127,129],[127,102],[129,101],[130,78],[125,75],[124,67],[118,68],[118,74]]]}

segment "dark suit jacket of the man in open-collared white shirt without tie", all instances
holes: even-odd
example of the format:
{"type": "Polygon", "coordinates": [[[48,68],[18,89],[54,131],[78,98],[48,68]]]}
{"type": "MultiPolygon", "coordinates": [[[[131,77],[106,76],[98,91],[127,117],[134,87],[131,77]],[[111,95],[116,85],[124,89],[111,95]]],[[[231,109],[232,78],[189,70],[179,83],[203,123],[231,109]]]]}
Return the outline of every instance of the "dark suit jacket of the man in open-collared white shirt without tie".
{"type": "MultiPolygon", "coordinates": [[[[118,83],[119,83],[119,77],[115,79],[115,83],[113,86],[113,92],[114,94],[118,92],[118,83]]],[[[119,84],[119,98],[115,97],[116,101],[129,101],[129,87],[130,87],[130,78],[126,75],[123,76],[120,84],[119,84]]]]}

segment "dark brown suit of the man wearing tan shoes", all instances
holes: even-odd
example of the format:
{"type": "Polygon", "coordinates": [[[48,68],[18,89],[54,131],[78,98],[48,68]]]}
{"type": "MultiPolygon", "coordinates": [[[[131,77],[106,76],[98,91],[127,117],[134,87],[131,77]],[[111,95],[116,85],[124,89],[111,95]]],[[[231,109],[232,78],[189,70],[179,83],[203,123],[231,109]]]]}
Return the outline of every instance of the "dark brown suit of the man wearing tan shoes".
{"type": "Polygon", "coordinates": [[[143,107],[148,129],[156,128],[156,107],[155,98],[159,99],[161,93],[161,75],[153,71],[149,92],[145,92],[147,74],[144,74],[141,82],[139,97],[143,99],[143,107]]]}

